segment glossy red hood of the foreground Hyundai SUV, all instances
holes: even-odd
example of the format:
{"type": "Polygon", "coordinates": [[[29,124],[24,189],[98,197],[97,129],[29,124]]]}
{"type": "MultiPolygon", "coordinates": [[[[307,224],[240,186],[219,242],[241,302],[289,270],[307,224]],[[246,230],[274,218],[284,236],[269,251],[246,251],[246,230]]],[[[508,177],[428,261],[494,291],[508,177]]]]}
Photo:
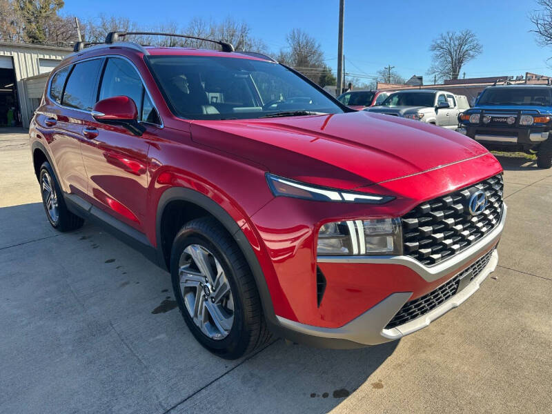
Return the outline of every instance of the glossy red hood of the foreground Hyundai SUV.
{"type": "Polygon", "coordinates": [[[193,121],[192,139],[282,177],[358,188],[488,151],[457,132],[365,111],[334,115],[193,121]]]}

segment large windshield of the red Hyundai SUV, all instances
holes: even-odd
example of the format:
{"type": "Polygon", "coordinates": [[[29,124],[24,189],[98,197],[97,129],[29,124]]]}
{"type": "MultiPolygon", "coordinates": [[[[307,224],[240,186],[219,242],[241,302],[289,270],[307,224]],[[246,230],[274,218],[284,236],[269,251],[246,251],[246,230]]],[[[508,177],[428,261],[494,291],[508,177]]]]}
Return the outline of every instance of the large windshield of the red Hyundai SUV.
{"type": "Polygon", "coordinates": [[[340,113],[317,88],[277,63],[210,56],[148,56],[171,110],[188,119],[340,113]]]}

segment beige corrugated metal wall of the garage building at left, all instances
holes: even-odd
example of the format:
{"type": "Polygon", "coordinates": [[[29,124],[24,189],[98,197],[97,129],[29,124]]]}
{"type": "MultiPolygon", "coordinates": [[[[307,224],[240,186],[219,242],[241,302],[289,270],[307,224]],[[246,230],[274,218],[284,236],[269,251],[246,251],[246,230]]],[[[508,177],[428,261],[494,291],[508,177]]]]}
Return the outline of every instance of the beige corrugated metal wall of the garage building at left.
{"type": "MultiPolygon", "coordinates": [[[[40,74],[39,59],[55,59],[61,61],[71,50],[66,48],[50,48],[47,46],[31,46],[0,43],[0,56],[11,56],[15,79],[17,79],[17,95],[21,108],[21,122],[24,128],[29,127],[32,118],[33,105],[23,86],[22,79],[40,74]]],[[[46,79],[44,79],[46,81],[46,79]]],[[[42,92],[41,92],[42,95],[42,92]]]]}

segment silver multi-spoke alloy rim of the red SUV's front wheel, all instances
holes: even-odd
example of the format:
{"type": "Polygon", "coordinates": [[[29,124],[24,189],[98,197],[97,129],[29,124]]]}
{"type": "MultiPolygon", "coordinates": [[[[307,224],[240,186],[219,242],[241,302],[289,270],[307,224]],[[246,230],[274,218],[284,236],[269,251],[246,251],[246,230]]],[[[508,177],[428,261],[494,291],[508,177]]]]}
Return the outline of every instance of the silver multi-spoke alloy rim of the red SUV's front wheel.
{"type": "Polygon", "coordinates": [[[226,272],[204,246],[186,246],[179,259],[180,293],[196,326],[210,339],[224,339],[234,322],[234,298],[226,272]]]}

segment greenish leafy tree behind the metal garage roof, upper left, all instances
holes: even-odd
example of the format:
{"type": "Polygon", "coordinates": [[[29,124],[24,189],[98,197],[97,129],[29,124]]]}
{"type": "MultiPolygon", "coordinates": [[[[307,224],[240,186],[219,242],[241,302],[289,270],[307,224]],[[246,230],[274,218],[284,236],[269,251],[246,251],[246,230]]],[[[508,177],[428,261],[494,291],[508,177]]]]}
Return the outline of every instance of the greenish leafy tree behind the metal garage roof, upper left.
{"type": "Polygon", "coordinates": [[[50,22],[59,19],[63,0],[19,0],[17,11],[23,21],[23,39],[29,43],[48,41],[50,22]]]}

